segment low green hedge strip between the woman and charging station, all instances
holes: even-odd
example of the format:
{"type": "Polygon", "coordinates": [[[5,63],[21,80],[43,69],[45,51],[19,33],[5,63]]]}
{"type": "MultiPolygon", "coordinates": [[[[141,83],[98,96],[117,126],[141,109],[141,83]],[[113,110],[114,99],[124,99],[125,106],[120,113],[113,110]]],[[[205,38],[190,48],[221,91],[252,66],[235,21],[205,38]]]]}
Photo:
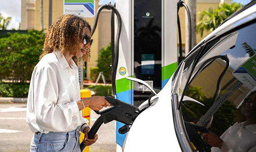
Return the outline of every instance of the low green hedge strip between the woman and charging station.
{"type": "Polygon", "coordinates": [[[90,85],[89,89],[93,89],[96,96],[112,96],[112,85],[90,85]]]}

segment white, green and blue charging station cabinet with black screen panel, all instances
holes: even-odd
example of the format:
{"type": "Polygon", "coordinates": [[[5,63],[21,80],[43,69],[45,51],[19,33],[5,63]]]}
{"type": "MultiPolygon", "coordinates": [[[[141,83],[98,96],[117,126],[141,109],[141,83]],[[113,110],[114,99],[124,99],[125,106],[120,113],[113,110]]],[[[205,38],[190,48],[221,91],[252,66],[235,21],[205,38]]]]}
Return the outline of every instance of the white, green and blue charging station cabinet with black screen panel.
{"type": "MultiPolygon", "coordinates": [[[[126,77],[144,80],[158,93],[177,68],[177,2],[116,0],[116,8],[122,23],[116,99],[139,107],[151,91],[126,77]]],[[[118,132],[124,124],[116,123],[117,151],[121,151],[126,134],[118,132]]]]}

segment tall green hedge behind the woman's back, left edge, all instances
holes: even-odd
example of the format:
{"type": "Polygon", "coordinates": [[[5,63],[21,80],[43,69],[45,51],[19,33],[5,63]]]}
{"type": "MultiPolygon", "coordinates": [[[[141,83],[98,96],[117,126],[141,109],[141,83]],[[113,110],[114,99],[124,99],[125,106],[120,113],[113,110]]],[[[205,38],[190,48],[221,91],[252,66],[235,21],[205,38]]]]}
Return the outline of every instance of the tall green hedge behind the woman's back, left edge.
{"type": "Polygon", "coordinates": [[[44,36],[43,31],[28,30],[27,34],[8,33],[0,38],[0,80],[30,80],[42,52],[44,36]]]}

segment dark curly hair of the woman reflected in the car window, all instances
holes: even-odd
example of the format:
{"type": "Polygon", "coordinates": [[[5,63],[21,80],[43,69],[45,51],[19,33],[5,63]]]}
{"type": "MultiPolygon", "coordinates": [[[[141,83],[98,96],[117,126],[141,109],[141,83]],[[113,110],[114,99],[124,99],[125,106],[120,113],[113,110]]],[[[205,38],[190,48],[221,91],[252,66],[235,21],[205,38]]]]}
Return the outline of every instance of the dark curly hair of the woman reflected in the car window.
{"type": "MultiPolygon", "coordinates": [[[[254,93],[256,93],[256,91],[252,91],[246,98],[250,98],[254,93]]],[[[250,116],[249,118],[256,118],[256,104],[255,104],[256,99],[254,99],[253,101],[253,105],[252,105],[252,110],[250,112],[250,116]]],[[[245,106],[246,106],[246,100],[243,101],[243,103],[238,107],[238,109],[235,111],[234,115],[234,122],[244,122],[247,120],[247,118],[244,116],[244,110],[245,110],[245,106]]]]}

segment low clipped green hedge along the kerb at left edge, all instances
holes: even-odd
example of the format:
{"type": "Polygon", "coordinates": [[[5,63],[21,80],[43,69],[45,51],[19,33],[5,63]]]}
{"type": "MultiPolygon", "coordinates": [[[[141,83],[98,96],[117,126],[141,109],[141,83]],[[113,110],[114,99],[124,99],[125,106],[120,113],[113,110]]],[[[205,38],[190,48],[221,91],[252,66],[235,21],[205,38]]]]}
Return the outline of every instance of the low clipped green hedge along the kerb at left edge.
{"type": "Polygon", "coordinates": [[[29,83],[0,82],[0,97],[27,97],[29,83]]]}

